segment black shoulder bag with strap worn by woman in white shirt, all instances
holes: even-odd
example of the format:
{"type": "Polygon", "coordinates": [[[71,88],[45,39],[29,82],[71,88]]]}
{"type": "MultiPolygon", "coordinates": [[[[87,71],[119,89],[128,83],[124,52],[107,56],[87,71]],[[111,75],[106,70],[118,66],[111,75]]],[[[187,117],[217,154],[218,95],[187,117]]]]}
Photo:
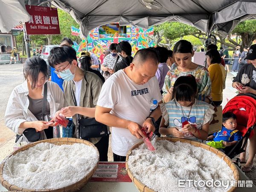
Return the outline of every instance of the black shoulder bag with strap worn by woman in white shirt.
{"type": "MultiPolygon", "coordinates": [[[[44,99],[43,99],[43,105],[42,105],[42,121],[44,121],[45,116],[45,110],[47,105],[47,83],[44,84],[44,99]]],[[[25,137],[29,140],[29,142],[36,142],[40,139],[41,131],[36,132],[35,128],[27,128],[23,131],[23,134],[25,137]]],[[[21,135],[16,135],[15,143],[18,141],[18,139],[21,137],[21,135]]]]}

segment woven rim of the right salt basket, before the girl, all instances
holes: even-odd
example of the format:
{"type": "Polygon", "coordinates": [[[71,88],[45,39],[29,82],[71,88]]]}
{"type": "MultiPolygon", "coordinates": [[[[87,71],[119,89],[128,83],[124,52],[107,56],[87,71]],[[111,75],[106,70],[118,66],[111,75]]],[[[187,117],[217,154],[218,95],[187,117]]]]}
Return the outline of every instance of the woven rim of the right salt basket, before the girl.
{"type": "MultiPolygon", "coordinates": [[[[179,138],[172,138],[172,137],[160,137],[157,140],[169,140],[172,142],[183,142],[183,143],[190,143],[191,145],[194,145],[196,147],[201,147],[204,148],[208,151],[211,151],[212,153],[215,153],[216,155],[218,155],[218,157],[222,158],[224,157],[224,161],[227,163],[227,165],[230,167],[230,169],[233,171],[235,180],[238,182],[239,180],[239,172],[238,169],[236,167],[236,165],[233,163],[233,161],[223,152],[221,152],[220,150],[213,148],[212,146],[206,145],[204,143],[199,143],[199,142],[195,142],[195,141],[191,141],[191,140],[184,140],[184,139],[179,139],[179,138]]],[[[126,161],[125,161],[125,166],[126,166],[126,170],[128,172],[129,177],[131,178],[131,180],[134,182],[135,186],[137,187],[137,189],[140,192],[154,192],[152,189],[148,188],[147,186],[145,186],[143,183],[140,182],[140,180],[138,180],[136,177],[134,177],[134,175],[132,174],[131,170],[129,169],[128,166],[128,159],[129,159],[129,155],[131,154],[131,151],[135,148],[138,148],[142,142],[139,142],[137,144],[135,144],[129,151],[128,154],[126,156],[126,161]]],[[[236,189],[235,186],[233,186],[228,192],[234,192],[236,189]]]]}

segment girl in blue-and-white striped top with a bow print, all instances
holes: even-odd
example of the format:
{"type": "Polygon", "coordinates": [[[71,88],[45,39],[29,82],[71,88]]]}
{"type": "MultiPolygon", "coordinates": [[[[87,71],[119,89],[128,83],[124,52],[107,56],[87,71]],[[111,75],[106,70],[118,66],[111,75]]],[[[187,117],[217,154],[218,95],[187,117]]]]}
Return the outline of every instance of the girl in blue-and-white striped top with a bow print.
{"type": "Polygon", "coordinates": [[[162,106],[159,133],[189,140],[206,140],[213,106],[196,99],[197,84],[192,75],[179,77],[172,100],[162,106]]]}

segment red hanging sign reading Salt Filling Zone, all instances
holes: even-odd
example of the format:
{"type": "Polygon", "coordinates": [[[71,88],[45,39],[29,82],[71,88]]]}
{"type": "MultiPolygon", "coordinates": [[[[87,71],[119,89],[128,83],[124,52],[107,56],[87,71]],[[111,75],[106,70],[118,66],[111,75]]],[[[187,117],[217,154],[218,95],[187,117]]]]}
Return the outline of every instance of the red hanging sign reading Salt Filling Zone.
{"type": "Polygon", "coordinates": [[[57,8],[26,5],[26,10],[30,14],[25,23],[28,35],[60,34],[57,8]]]}

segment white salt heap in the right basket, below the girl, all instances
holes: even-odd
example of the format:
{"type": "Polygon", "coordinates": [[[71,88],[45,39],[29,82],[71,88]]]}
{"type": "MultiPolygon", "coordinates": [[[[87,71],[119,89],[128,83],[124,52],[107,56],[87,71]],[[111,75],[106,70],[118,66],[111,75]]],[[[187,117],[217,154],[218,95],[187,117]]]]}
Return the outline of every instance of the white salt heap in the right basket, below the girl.
{"type": "Polygon", "coordinates": [[[172,143],[167,140],[157,141],[154,147],[156,151],[148,151],[142,144],[132,151],[128,160],[134,177],[150,189],[157,192],[224,192],[232,187],[230,181],[235,180],[233,171],[211,151],[188,143],[172,143]],[[200,180],[207,183],[204,185],[200,180]],[[218,182],[211,184],[211,180],[219,180],[224,185],[219,185],[218,182]]]}

